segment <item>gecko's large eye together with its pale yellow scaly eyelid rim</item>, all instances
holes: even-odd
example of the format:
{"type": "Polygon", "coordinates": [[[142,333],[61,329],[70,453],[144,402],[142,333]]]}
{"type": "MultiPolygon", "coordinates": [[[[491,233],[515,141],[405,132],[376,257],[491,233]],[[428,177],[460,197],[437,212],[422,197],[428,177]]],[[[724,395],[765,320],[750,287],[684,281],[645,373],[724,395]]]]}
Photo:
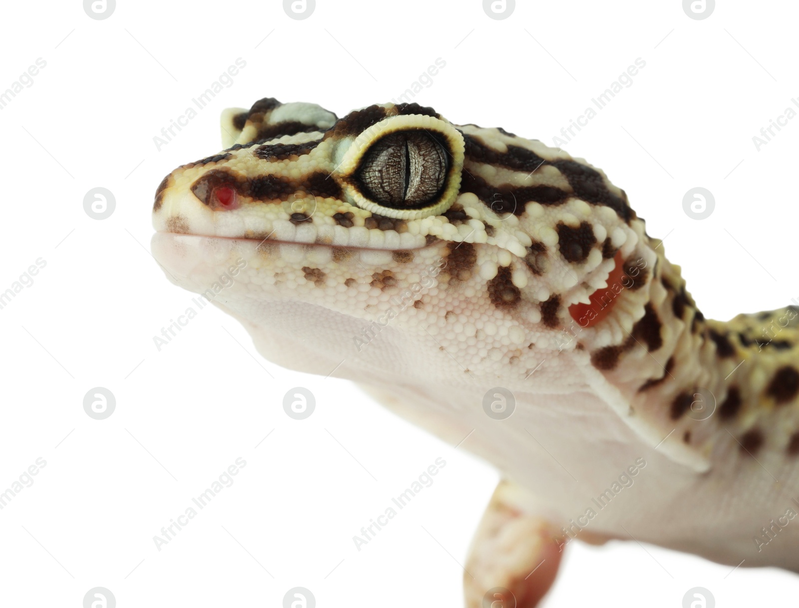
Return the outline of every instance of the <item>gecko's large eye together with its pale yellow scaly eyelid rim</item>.
{"type": "Polygon", "coordinates": [[[336,173],[353,205],[416,220],[439,215],[455,202],[463,151],[463,135],[447,121],[393,116],[360,133],[336,173]]]}

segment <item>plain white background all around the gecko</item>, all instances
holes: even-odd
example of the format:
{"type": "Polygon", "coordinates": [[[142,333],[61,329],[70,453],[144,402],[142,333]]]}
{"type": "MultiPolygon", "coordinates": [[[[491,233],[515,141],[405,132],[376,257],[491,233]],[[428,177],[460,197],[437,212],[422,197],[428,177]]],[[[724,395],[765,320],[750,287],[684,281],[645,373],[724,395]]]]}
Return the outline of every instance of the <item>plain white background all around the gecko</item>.
{"type": "MultiPolygon", "coordinates": [[[[318,0],[294,20],[275,0],[120,0],[93,20],[76,0],[6,2],[0,91],[37,58],[46,67],[0,110],[0,291],[34,260],[46,267],[0,310],[0,489],[47,464],[0,511],[3,604],[78,608],[105,586],[120,608],[281,606],[304,586],[320,608],[459,606],[458,562],[495,471],[350,383],[261,360],[216,308],[158,352],[153,336],[191,294],[149,255],[153,192],[221,149],[222,109],[260,97],[342,116],[397,97],[442,58],[413,101],[551,144],[642,58],[634,84],[565,149],[605,169],[648,232],[666,236],[706,316],[784,306],[799,299],[799,120],[759,151],[752,137],[799,96],[799,9],[719,5],[693,20],[678,0],[519,2],[494,20],[476,0],[318,0]],[[247,65],[233,85],[158,151],[153,137],[237,58],[247,65]],[[103,221],[83,209],[97,186],[116,198],[103,221]],[[704,221],[682,209],[694,186],[714,193],[704,221]],[[102,421],[82,407],[97,386],[117,399],[102,421]],[[316,395],[301,422],[281,407],[296,386],[316,395]],[[435,483],[356,550],[353,534],[439,456],[435,483]],[[247,466],[233,486],[157,550],[153,535],[237,457],[247,466]]],[[[575,542],[545,605],[678,608],[694,586],[718,606],[797,597],[793,574],[732,570],[635,542],[575,542]]]]}

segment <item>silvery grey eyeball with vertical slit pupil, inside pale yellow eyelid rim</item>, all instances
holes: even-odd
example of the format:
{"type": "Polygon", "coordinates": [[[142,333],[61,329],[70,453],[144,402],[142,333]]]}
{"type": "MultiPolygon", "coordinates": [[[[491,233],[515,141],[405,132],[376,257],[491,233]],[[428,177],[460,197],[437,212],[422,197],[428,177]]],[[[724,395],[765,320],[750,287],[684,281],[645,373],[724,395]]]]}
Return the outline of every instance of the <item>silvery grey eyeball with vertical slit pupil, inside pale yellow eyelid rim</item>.
{"type": "Polygon", "coordinates": [[[364,196],[392,209],[418,209],[438,197],[447,179],[446,142],[424,131],[400,131],[376,141],[356,178],[364,196]]]}

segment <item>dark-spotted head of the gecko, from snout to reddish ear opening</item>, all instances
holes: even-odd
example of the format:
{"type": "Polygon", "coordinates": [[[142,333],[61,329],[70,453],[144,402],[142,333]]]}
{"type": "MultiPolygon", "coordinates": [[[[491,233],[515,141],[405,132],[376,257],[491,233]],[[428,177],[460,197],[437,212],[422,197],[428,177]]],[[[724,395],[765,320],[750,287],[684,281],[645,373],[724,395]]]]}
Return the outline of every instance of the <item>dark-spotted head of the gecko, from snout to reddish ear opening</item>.
{"type": "Polygon", "coordinates": [[[227,149],[158,187],[153,252],[201,293],[245,267],[213,295],[251,326],[286,324],[257,302],[324,310],[352,320],[359,352],[377,334],[428,334],[475,369],[573,350],[574,328],[615,344],[643,314],[642,222],[562,150],[407,103],[337,119],[267,98],[226,110],[222,136],[227,149]]]}

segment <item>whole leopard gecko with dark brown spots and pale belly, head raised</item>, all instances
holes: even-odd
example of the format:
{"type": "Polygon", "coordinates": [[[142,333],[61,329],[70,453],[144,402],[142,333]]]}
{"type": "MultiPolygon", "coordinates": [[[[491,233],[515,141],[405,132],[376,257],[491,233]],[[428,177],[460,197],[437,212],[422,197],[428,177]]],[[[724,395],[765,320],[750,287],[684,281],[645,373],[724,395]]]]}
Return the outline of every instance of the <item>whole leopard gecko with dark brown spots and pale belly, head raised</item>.
{"type": "Polygon", "coordinates": [[[574,539],[799,572],[799,308],[706,319],[624,190],[501,128],[267,97],[221,135],[157,187],[153,256],[499,470],[466,606],[535,606],[574,539]]]}

